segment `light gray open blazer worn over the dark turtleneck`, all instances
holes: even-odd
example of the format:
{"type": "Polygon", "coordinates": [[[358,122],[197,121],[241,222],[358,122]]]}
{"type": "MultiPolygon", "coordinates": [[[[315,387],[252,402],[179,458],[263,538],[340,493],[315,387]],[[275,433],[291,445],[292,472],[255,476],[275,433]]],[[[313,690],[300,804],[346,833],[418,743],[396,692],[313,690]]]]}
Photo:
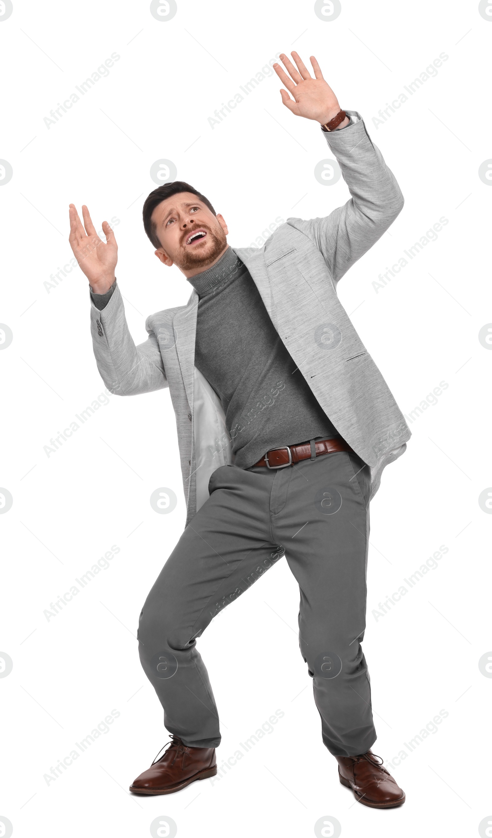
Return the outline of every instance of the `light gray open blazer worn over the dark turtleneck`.
{"type": "MultiPolygon", "coordinates": [[[[337,283],[400,213],[403,196],[357,111],[341,131],[323,132],[350,199],[326,218],[288,218],[257,249],[233,248],[245,262],[272,323],[314,396],[372,476],[371,497],[411,432],[386,381],[336,293],[337,283]]],[[[186,525],[208,497],[215,468],[233,463],[220,399],[194,367],[199,297],[165,308],[145,323],[136,346],[115,288],[106,308],[91,303],[97,367],[117,396],[169,387],[178,430],[186,525]]]]}

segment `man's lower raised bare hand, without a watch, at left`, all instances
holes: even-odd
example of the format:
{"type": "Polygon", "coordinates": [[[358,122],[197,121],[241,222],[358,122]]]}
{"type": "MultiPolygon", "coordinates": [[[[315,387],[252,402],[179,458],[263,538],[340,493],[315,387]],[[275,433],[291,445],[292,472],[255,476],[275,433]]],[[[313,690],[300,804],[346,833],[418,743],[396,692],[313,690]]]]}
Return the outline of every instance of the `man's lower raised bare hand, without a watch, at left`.
{"type": "Polygon", "coordinates": [[[93,292],[105,294],[115,281],[118,261],[118,246],[115,234],[107,221],[102,222],[106,242],[101,241],[91,221],[89,210],[82,204],[84,225],[80,221],[75,204],[70,204],[70,247],[80,270],[85,273],[93,292]]]}

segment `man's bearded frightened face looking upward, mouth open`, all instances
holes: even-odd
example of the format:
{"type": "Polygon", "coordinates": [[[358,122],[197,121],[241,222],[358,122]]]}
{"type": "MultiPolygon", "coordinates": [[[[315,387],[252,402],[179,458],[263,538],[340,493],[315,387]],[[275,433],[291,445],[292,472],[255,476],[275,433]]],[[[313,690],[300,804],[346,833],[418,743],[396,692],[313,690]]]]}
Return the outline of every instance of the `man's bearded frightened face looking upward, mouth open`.
{"type": "Polygon", "coordinates": [[[177,265],[185,277],[205,271],[227,246],[225,220],[191,192],[161,201],[152,220],[161,242],[155,255],[164,265],[177,265]]]}

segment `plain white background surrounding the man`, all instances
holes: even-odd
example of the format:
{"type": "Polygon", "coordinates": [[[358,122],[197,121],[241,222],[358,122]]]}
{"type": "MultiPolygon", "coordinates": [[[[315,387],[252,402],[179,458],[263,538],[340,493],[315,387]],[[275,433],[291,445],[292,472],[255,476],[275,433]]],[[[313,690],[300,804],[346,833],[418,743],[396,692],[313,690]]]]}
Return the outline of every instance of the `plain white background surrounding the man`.
{"type": "MultiPolygon", "coordinates": [[[[492,158],[489,39],[478,3],[342,2],[336,20],[313,3],[181,0],[171,20],[148,3],[13,3],[0,17],[3,136],[13,178],[0,189],[3,580],[0,816],[13,835],[150,835],[159,815],[179,836],[314,835],[323,816],[342,835],[479,835],[486,794],[489,691],[479,659],[492,649],[489,532],[479,494],[492,484],[489,369],[479,329],[492,321],[489,199],[479,165],[492,158]],[[349,193],[319,184],[332,157],[319,127],[282,106],[272,75],[223,121],[228,101],[280,51],[315,54],[342,107],[359,111],[395,173],[405,206],[344,277],[339,298],[412,423],[407,453],[386,469],[371,504],[367,629],[373,750],[397,757],[439,711],[448,716],[391,768],[407,793],[398,810],[355,803],[321,741],[312,681],[298,650],[298,587],[280,561],[199,639],[220,713],[218,762],[277,710],[274,731],[222,778],[167,797],[135,798],[132,780],[168,741],[138,655],[137,620],[184,527],[185,504],[168,391],[110,396],[49,457],[44,446],[104,391],[92,354],[87,281],[66,264],[68,205],[96,228],[116,216],[118,283],[137,343],[149,313],[184,304],[189,284],[153,256],[142,202],[154,161],[207,195],[233,246],[277,216],[328,215],[349,193]],[[44,117],[116,52],[120,59],[49,128],[44,117]],[[433,59],[448,60],[401,108],[373,117],[433,59]],[[448,225],[391,283],[372,283],[441,216],[448,225]],[[432,400],[430,400],[432,401],[432,400]],[[158,487],[178,505],[157,515],[158,487]],[[112,545],[120,552],[63,611],[44,616],[112,545]],[[441,545],[448,553],[384,617],[373,609],[441,545]],[[109,732],[47,784],[60,759],[111,710],[109,732]]],[[[491,183],[491,182],[489,182],[491,183]]],[[[490,348],[490,347],[489,347],[490,348]]],[[[492,654],[492,653],[491,653],[492,654]]],[[[406,749],[407,750],[407,749],[406,749]]],[[[0,818],[1,820],[1,818],[0,818]]],[[[492,820],[492,818],[491,818],[492,820]]],[[[329,831],[326,833],[329,835],[329,831]]],[[[482,833],[484,834],[484,833],[482,833]]]]}

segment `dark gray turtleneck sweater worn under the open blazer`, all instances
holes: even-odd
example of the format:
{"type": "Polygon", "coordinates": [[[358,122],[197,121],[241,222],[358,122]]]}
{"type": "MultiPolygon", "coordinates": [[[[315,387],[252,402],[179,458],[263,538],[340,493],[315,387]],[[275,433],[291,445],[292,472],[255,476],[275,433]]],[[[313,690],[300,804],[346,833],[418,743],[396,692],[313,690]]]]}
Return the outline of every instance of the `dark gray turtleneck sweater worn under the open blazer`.
{"type": "MultiPolygon", "coordinates": [[[[188,282],[199,295],[194,365],[220,397],[236,466],[250,468],[270,448],[338,437],[232,248],[188,282]]],[[[92,294],[97,308],[115,284],[92,294]]]]}

